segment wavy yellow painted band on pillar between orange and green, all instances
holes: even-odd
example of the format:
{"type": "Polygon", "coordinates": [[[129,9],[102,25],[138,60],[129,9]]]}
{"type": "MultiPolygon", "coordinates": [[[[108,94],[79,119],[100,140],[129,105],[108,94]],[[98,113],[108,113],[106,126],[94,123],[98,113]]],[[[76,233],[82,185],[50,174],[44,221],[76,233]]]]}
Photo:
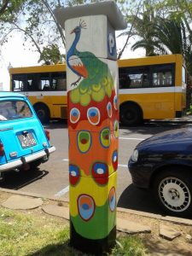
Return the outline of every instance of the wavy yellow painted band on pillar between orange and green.
{"type": "Polygon", "coordinates": [[[96,202],[96,207],[102,207],[108,200],[110,189],[115,188],[117,191],[117,172],[113,172],[108,177],[108,184],[98,185],[94,179],[90,177],[80,177],[80,181],[76,186],[70,186],[69,201],[70,201],[70,214],[75,217],[79,214],[77,200],[79,195],[90,195],[96,202]]]}

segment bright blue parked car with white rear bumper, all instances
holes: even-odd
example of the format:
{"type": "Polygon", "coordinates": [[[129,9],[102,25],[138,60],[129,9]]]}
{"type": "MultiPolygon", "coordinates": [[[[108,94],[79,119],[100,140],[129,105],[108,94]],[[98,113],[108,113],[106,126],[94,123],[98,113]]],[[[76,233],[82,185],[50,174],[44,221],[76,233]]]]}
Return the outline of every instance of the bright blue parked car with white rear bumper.
{"type": "Polygon", "coordinates": [[[0,92],[0,180],[9,170],[34,169],[55,151],[32,104],[21,94],[0,92]]]}

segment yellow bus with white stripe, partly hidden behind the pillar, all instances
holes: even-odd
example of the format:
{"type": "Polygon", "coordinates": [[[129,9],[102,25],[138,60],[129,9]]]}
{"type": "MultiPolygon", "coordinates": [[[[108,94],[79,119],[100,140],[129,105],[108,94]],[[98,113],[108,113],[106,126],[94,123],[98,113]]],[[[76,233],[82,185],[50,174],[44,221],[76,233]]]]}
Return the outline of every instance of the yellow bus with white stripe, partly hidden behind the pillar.
{"type": "MultiPolygon", "coordinates": [[[[186,106],[182,55],[119,60],[119,119],[138,125],[143,119],[181,117],[186,106]]],[[[10,68],[11,90],[29,97],[43,123],[67,119],[65,64],[10,68]]]]}

